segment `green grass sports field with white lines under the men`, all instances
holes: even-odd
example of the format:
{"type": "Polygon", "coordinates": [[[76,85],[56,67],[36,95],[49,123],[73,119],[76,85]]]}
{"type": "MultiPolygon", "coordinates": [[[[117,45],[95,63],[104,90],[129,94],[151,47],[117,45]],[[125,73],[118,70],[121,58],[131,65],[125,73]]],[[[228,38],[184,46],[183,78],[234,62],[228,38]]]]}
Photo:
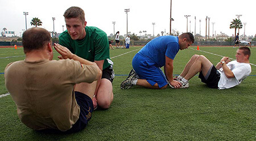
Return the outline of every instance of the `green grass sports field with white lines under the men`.
{"type": "MultiPolygon", "coordinates": [[[[114,100],[108,110],[92,113],[89,125],[75,134],[44,134],[28,129],[16,114],[11,96],[0,98],[0,140],[256,140],[256,48],[251,49],[251,75],[240,86],[218,90],[196,76],[187,89],[147,89],[120,84],[132,69],[131,60],[142,47],[110,50],[114,62],[114,100]]],[[[193,54],[214,65],[222,57],[236,58],[232,46],[192,46],[174,60],[178,75],[193,54]],[[210,54],[212,53],[212,54],[210,54]]],[[[55,52],[55,59],[58,54],[55,52]]],[[[5,66],[24,59],[23,49],[0,48],[0,95],[7,93],[5,66]]],[[[19,71],[19,70],[17,70],[19,71]]]]}

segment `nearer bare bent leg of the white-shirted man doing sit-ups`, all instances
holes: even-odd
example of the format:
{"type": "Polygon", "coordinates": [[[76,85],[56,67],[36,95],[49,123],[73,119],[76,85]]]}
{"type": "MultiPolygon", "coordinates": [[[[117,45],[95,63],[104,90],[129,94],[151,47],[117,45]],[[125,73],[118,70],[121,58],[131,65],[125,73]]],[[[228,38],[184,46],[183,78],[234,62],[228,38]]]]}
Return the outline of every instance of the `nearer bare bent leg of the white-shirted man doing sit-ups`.
{"type": "Polygon", "coordinates": [[[190,67],[187,75],[185,75],[184,78],[189,80],[200,71],[202,71],[203,75],[205,76],[207,75],[210,67],[212,67],[212,63],[204,55],[200,55],[196,58],[195,62],[190,67]]]}

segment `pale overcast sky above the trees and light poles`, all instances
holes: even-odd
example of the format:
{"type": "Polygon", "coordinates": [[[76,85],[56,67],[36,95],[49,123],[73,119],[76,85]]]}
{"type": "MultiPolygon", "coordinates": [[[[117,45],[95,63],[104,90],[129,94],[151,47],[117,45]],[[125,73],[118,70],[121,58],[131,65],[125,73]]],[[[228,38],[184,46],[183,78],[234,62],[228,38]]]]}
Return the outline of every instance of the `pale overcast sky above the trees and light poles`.
{"type": "MultiPolygon", "coordinates": [[[[39,18],[43,24],[42,28],[53,31],[53,21],[55,20],[55,31],[61,33],[62,25],[65,25],[64,11],[71,6],[79,6],[85,11],[85,20],[88,26],[102,29],[110,35],[119,31],[121,35],[126,34],[126,13],[125,8],[130,8],[128,12],[128,31],[140,35],[139,31],[147,31],[147,34],[158,35],[161,31],[170,31],[170,0],[73,0],[73,1],[30,1],[30,0],[0,0],[0,29],[5,27],[7,31],[15,31],[20,36],[22,29],[26,29],[25,15],[28,12],[27,28],[31,28],[32,18],[39,18]]],[[[246,23],[245,35],[256,34],[256,18],[254,0],[172,0],[172,29],[180,33],[187,31],[187,19],[184,15],[191,15],[188,18],[188,32],[200,32],[205,36],[205,18],[210,17],[210,36],[226,33],[228,36],[234,34],[234,29],[229,25],[236,15],[240,16],[242,23],[246,23]],[[196,21],[195,21],[196,16],[196,21]],[[191,22],[191,23],[190,23],[191,22]],[[214,24],[212,24],[214,23],[214,24]]],[[[208,26],[208,23],[207,23],[208,26]]],[[[64,27],[65,30],[65,27],[64,27]]],[[[208,30],[208,27],[207,27],[208,30]]],[[[243,35],[244,28],[240,29],[243,35]]],[[[142,33],[143,34],[143,33],[142,33]]],[[[208,31],[207,31],[208,35],[208,31]]]]}

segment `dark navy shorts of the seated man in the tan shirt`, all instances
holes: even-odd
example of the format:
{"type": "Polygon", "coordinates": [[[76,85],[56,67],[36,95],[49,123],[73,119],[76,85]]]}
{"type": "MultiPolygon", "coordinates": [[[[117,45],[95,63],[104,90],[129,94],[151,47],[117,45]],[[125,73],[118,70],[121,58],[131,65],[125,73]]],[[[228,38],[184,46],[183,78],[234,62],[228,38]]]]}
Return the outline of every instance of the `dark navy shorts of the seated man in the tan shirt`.
{"type": "Polygon", "coordinates": [[[93,102],[88,95],[81,92],[75,91],[75,97],[77,104],[80,106],[80,114],[79,119],[77,119],[76,123],[71,127],[71,129],[64,132],[56,129],[45,129],[39,131],[44,133],[76,133],[83,130],[92,117],[93,102]]]}

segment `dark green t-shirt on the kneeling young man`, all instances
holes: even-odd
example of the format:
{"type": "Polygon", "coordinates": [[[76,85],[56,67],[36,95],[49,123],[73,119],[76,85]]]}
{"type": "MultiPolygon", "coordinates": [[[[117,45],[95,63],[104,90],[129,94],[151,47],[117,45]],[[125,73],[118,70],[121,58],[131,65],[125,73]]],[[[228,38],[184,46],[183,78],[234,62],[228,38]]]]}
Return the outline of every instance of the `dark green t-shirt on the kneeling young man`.
{"type": "MultiPolygon", "coordinates": [[[[103,70],[113,62],[109,57],[109,40],[104,31],[97,27],[85,27],[86,36],[82,40],[72,40],[68,31],[59,36],[59,44],[72,53],[91,62],[104,60],[103,70]]],[[[113,64],[112,64],[113,65],[113,64]]]]}

